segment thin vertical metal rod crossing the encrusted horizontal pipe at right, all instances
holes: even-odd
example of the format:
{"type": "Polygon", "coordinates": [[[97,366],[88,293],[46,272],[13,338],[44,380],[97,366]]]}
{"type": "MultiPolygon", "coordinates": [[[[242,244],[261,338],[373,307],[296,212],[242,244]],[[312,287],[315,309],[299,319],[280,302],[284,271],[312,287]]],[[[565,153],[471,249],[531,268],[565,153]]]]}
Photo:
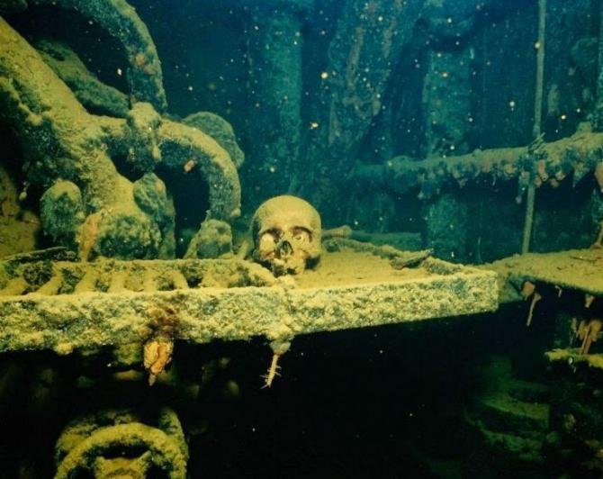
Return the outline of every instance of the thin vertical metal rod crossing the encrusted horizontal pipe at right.
{"type": "MultiPolygon", "coordinates": [[[[546,30],[546,0],[538,0],[538,40],[536,43],[536,91],[534,98],[534,126],[532,137],[536,140],[541,134],[543,116],[543,84],[545,80],[545,30],[546,30]]],[[[536,168],[533,168],[533,171],[536,168]]],[[[532,227],[534,224],[534,204],[536,203],[536,185],[534,178],[530,178],[527,186],[526,221],[524,222],[524,237],[521,243],[521,252],[530,250],[532,227]]]]}

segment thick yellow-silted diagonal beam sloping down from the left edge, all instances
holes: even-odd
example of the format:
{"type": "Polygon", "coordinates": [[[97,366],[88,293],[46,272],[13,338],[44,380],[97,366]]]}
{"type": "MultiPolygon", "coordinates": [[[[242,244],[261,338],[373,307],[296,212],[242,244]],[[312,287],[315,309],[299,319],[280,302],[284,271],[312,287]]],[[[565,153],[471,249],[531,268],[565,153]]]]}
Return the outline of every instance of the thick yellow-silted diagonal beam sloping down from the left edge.
{"type": "MultiPolygon", "coordinates": [[[[94,192],[96,203],[107,203],[114,196],[115,169],[107,152],[97,146],[107,138],[119,142],[116,137],[125,121],[87,114],[38,52],[2,18],[0,117],[17,131],[26,147],[27,175],[40,176],[35,180],[42,186],[48,187],[55,179],[49,171],[58,171],[65,179],[81,178],[78,186],[94,192]],[[28,73],[32,71],[36,74],[28,73]],[[38,174],[37,168],[44,173],[38,174]]],[[[31,177],[28,180],[33,183],[31,177]]]]}

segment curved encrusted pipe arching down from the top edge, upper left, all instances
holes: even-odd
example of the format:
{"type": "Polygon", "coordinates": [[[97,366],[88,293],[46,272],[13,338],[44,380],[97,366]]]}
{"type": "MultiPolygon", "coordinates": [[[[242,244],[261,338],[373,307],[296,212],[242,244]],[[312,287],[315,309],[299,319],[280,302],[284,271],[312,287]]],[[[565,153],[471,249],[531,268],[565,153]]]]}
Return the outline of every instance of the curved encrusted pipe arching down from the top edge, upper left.
{"type": "Polygon", "coordinates": [[[152,104],[159,112],[166,111],[166,92],[157,48],[147,25],[125,0],[28,0],[28,3],[76,10],[100,25],[123,46],[130,63],[126,72],[130,95],[135,101],[152,104]]]}

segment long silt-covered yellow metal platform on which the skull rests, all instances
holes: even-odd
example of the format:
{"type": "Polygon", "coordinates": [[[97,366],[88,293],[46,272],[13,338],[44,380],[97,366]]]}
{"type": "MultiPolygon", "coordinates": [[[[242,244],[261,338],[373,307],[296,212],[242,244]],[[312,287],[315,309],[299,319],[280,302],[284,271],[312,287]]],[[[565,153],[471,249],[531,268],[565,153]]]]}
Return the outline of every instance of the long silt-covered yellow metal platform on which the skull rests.
{"type": "Polygon", "coordinates": [[[206,343],[362,328],[498,307],[491,271],[428,258],[395,269],[351,250],[275,279],[242,260],[0,263],[0,351],[144,342],[206,343]]]}

